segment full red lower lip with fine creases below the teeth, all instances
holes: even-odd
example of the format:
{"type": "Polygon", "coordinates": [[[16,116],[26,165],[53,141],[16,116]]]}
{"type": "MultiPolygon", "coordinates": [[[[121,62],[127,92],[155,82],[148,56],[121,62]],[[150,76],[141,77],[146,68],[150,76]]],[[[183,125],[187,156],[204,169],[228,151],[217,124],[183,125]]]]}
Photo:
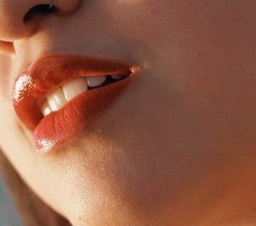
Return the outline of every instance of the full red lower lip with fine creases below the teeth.
{"type": "Polygon", "coordinates": [[[81,93],[59,111],[43,118],[34,130],[34,142],[38,150],[48,152],[83,133],[88,124],[120,97],[133,80],[131,77],[134,75],[81,93]]]}

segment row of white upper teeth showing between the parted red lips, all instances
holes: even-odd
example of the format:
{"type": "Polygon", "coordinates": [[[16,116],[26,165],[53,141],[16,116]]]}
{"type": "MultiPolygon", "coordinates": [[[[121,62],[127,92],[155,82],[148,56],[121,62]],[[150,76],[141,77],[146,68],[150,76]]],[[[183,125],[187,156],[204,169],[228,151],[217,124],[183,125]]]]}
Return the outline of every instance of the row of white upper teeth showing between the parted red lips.
{"type": "MultiPolygon", "coordinates": [[[[122,79],[123,76],[111,76],[113,79],[122,79]]],[[[66,82],[63,86],[51,92],[47,96],[46,101],[41,106],[41,111],[44,116],[49,115],[52,111],[57,111],[62,108],[72,98],[80,95],[82,92],[86,92],[88,86],[96,87],[105,82],[107,76],[87,76],[77,77],[69,82],[66,82]]]]}

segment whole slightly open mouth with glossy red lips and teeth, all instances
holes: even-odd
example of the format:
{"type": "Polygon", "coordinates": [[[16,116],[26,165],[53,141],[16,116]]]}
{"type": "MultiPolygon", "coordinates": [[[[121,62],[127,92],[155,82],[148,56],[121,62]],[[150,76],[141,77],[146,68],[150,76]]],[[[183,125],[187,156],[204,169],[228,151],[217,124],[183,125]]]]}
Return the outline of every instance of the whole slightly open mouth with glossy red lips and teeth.
{"type": "Polygon", "coordinates": [[[13,105],[39,151],[83,133],[130,85],[137,66],[74,55],[44,57],[15,80],[13,105]]]}

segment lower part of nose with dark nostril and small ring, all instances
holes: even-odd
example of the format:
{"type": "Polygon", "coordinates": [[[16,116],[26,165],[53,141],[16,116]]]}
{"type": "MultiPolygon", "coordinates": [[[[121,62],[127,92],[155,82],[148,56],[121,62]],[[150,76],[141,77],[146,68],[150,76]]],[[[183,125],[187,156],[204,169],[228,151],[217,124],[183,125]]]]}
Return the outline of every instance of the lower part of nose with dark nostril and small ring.
{"type": "Polygon", "coordinates": [[[1,0],[0,40],[13,42],[31,36],[50,15],[71,15],[80,0],[1,0]]]}

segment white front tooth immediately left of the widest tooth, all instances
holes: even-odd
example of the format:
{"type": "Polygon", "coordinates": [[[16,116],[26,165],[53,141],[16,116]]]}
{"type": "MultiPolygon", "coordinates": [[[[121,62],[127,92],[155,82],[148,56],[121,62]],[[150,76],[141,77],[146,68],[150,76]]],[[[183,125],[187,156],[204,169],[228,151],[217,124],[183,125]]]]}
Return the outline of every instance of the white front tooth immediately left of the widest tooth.
{"type": "Polygon", "coordinates": [[[48,104],[51,111],[57,111],[67,103],[61,88],[56,89],[48,96],[48,104]]]}

